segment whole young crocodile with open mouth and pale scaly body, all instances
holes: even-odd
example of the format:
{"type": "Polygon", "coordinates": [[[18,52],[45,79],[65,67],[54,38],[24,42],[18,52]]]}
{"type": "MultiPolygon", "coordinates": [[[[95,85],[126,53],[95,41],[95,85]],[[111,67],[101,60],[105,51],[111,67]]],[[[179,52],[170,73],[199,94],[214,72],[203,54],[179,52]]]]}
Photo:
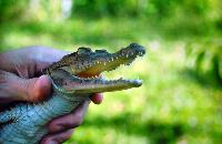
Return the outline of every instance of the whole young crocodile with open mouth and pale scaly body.
{"type": "Polygon", "coordinates": [[[43,73],[52,80],[52,96],[46,102],[20,103],[0,113],[0,143],[34,144],[46,135],[46,124],[60,115],[70,113],[89,95],[98,92],[120,91],[138,88],[141,80],[105,80],[95,75],[111,71],[121,64],[130,64],[145,53],[143,47],[132,43],[115,53],[105,50],[79,48],[63,56],[43,73]]]}

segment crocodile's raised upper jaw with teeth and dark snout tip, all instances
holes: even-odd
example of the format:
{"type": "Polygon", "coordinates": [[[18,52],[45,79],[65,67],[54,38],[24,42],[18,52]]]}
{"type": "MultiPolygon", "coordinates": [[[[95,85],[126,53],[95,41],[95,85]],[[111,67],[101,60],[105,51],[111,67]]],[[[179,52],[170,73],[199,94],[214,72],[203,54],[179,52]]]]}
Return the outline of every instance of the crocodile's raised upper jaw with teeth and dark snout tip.
{"type": "Polygon", "coordinates": [[[89,62],[90,64],[83,66],[81,71],[75,72],[75,75],[98,75],[103,71],[115,70],[121,64],[129,65],[137,56],[143,56],[144,54],[145,50],[143,47],[131,43],[129,47],[112,54],[108,52],[99,53],[98,58],[94,56],[94,59],[89,62]]]}

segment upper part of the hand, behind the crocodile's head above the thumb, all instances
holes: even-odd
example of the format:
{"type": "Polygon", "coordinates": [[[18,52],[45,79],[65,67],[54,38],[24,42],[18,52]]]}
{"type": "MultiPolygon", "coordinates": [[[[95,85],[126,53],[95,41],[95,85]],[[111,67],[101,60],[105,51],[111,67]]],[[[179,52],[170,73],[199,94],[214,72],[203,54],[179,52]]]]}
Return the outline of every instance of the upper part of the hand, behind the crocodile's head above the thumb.
{"type": "Polygon", "coordinates": [[[27,76],[24,73],[19,72],[23,72],[22,69],[26,68],[29,70],[28,76],[33,78],[36,74],[41,74],[43,69],[49,66],[51,63],[59,61],[68,53],[69,52],[48,47],[27,47],[0,53],[0,69],[16,73],[20,76],[27,76]]]}

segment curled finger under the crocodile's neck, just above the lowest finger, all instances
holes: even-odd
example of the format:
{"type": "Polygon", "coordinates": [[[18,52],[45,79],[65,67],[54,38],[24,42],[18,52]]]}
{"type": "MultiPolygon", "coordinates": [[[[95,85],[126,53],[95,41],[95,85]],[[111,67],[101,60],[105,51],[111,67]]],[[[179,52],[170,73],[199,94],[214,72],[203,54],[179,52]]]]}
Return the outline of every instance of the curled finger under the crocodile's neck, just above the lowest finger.
{"type": "Polygon", "coordinates": [[[48,124],[48,130],[50,133],[61,132],[67,128],[74,128],[79,126],[82,121],[84,113],[89,106],[90,101],[85,101],[80,106],[78,106],[73,113],[58,117],[53,121],[51,121],[48,124]]]}

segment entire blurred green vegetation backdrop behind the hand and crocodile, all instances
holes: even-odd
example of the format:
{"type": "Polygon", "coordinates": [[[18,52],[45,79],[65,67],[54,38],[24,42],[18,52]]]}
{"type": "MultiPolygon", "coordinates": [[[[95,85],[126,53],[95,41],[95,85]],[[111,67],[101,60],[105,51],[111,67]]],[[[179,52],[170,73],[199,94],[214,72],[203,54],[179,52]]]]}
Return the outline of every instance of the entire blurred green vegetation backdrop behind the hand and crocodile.
{"type": "Polygon", "coordinates": [[[143,85],[105,93],[67,143],[222,143],[221,38],[220,0],[0,0],[2,52],[147,48],[130,68],[105,73],[139,76],[143,85]]]}

